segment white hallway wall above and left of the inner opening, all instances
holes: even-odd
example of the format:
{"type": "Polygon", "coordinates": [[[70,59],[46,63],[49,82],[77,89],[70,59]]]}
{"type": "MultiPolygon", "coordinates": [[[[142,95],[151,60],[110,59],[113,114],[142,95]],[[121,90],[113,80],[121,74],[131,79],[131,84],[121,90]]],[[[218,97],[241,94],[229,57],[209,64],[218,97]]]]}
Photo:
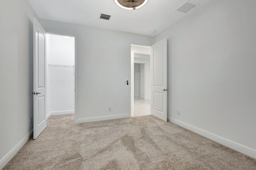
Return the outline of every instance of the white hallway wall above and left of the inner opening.
{"type": "MultiPolygon", "coordinates": [[[[150,55],[151,48],[144,47],[140,45],[131,45],[131,108],[134,108],[134,55],[135,54],[145,54],[150,55]]],[[[138,63],[138,61],[136,62],[138,63]]]]}

